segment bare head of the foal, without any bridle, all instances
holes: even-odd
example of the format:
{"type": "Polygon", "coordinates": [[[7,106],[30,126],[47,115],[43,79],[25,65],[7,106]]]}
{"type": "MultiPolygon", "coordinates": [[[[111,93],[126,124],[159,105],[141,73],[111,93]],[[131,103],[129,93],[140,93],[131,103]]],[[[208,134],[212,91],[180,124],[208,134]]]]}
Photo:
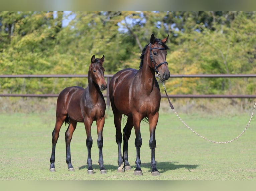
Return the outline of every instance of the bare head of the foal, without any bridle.
{"type": "Polygon", "coordinates": [[[106,90],[107,88],[107,83],[104,79],[104,72],[105,72],[105,69],[103,68],[104,61],[105,61],[104,55],[102,58],[95,58],[95,56],[93,55],[91,58],[91,65],[89,69],[89,73],[91,74],[92,81],[99,86],[100,90],[106,90]]]}

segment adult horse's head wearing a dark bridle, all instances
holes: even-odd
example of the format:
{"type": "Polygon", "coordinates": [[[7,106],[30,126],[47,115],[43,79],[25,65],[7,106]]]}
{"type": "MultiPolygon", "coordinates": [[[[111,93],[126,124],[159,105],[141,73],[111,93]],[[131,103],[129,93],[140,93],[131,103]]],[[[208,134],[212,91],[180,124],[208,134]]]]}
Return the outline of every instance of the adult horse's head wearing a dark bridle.
{"type": "Polygon", "coordinates": [[[163,40],[156,39],[154,34],[151,35],[149,44],[150,61],[153,63],[152,67],[157,74],[160,75],[162,81],[168,80],[170,72],[168,70],[166,55],[169,48],[165,45],[169,35],[163,40]]]}

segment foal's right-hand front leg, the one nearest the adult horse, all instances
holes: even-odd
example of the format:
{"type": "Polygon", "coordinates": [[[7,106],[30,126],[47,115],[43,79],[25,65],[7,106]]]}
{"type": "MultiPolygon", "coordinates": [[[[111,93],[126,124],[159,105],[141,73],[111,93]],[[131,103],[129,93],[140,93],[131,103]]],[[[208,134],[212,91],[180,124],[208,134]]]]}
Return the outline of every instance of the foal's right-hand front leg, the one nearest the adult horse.
{"type": "Polygon", "coordinates": [[[105,118],[104,116],[100,119],[98,119],[96,121],[96,125],[97,125],[97,133],[98,133],[98,139],[97,139],[97,143],[98,143],[98,148],[99,148],[99,165],[100,165],[100,173],[101,174],[106,174],[106,169],[103,165],[103,153],[102,153],[102,148],[103,148],[103,127],[105,124],[105,118]]]}

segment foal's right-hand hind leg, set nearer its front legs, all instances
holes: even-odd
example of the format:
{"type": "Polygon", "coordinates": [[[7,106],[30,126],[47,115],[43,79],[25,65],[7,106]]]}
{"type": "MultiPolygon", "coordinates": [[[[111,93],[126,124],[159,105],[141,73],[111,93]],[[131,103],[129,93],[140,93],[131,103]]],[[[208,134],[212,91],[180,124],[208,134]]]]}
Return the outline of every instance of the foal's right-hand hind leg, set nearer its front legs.
{"type": "Polygon", "coordinates": [[[74,171],[74,167],[72,166],[71,163],[71,153],[70,153],[70,142],[73,136],[74,131],[76,130],[77,127],[77,122],[71,120],[69,127],[65,133],[65,140],[66,140],[66,162],[68,164],[68,170],[69,171],[74,171]]]}

